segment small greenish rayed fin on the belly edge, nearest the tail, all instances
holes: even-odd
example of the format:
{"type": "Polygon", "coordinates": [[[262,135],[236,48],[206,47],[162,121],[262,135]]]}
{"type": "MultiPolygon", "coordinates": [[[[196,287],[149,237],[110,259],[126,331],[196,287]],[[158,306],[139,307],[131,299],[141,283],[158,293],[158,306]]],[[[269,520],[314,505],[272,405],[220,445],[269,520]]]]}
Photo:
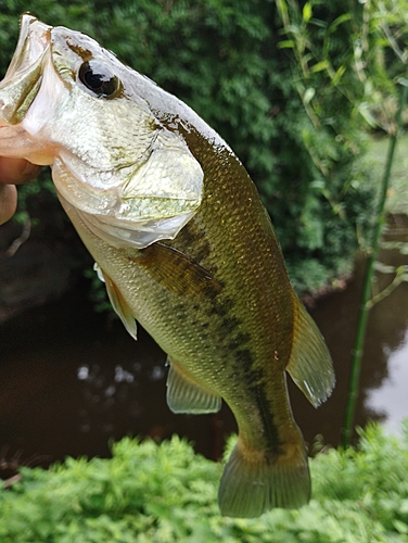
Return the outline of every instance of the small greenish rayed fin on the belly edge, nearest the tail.
{"type": "Polygon", "coordinates": [[[219,396],[196,384],[170,358],[168,363],[170,369],[167,377],[167,405],[173,413],[200,415],[216,413],[221,408],[219,396]]]}

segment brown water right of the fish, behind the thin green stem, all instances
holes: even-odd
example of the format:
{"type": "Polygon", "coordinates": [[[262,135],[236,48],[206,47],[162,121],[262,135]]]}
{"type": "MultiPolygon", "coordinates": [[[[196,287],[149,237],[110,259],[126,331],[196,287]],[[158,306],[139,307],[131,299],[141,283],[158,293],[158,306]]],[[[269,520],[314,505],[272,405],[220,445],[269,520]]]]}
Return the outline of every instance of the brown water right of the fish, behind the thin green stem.
{"type": "MultiPolygon", "coordinates": [[[[387,233],[384,236],[385,243],[382,244],[379,254],[379,260],[382,263],[395,268],[408,264],[408,255],[401,254],[395,247],[392,248],[390,242],[396,240],[404,243],[408,241],[408,218],[406,216],[391,217],[387,233]]],[[[323,435],[331,443],[339,442],[343,425],[364,269],[365,262],[362,257],[359,257],[355,277],[347,289],[319,301],[317,307],[311,311],[328,341],[336,371],[337,381],[334,393],[327,404],[319,407],[315,415],[317,418],[323,417],[322,424],[326,424],[323,435]],[[328,424],[329,420],[331,424],[328,424]]],[[[381,292],[386,288],[392,282],[393,277],[394,274],[378,273],[375,292],[381,292]]],[[[394,366],[388,364],[388,358],[391,353],[397,351],[404,342],[407,329],[408,283],[404,282],[383,301],[374,305],[370,312],[357,403],[357,425],[365,426],[367,420],[372,419],[380,420],[388,428],[395,429],[400,419],[408,416],[408,399],[404,397],[406,380],[397,383],[398,392],[396,393],[401,399],[397,408],[390,403],[384,409],[384,404],[380,405],[372,401],[372,391],[382,391],[382,388],[387,386],[387,379],[393,375],[394,366]]],[[[298,402],[301,401],[299,399],[298,402]]],[[[313,416],[309,411],[307,414],[313,416]]],[[[297,418],[301,425],[302,420],[307,424],[302,411],[297,418]]]]}

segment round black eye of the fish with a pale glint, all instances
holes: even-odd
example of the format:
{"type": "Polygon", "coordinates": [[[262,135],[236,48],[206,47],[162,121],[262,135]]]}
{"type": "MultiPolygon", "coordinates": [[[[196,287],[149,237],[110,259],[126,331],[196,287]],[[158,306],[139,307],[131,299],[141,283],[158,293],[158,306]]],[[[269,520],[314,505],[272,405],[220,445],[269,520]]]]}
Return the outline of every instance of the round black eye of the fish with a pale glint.
{"type": "Polygon", "coordinates": [[[120,88],[120,79],[101,61],[84,62],[78,76],[80,81],[98,97],[114,98],[120,88]]]}

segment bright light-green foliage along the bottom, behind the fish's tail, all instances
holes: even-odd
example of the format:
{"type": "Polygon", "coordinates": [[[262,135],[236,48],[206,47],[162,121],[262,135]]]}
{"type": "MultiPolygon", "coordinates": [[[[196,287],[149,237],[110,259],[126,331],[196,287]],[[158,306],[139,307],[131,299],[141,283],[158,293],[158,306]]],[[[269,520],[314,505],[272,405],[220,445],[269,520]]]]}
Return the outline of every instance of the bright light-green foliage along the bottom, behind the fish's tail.
{"type": "MultiPolygon", "coordinates": [[[[231,449],[231,443],[229,449],[231,449]]],[[[67,458],[48,471],[22,469],[0,491],[4,543],[194,542],[392,543],[408,541],[408,422],[400,439],[378,426],[358,450],[310,460],[314,497],[299,510],[258,519],[219,516],[221,465],[173,438],[124,439],[112,459],[67,458]]]]}

